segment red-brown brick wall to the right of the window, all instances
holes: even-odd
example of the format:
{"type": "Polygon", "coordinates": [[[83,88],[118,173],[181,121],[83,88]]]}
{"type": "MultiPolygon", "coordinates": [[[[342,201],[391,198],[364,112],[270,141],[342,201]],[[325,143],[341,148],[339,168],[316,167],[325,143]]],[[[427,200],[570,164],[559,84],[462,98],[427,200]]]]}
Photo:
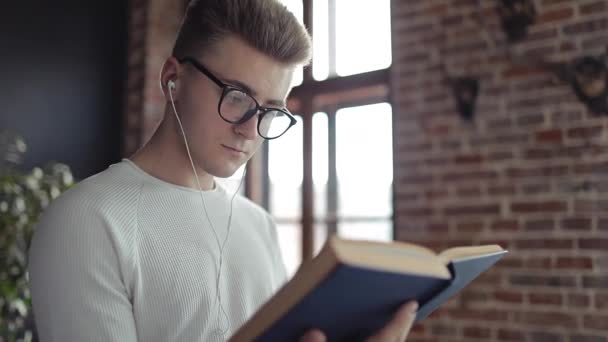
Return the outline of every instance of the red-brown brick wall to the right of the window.
{"type": "MultiPolygon", "coordinates": [[[[606,342],[608,121],[550,72],[510,62],[498,1],[480,2],[392,1],[396,237],[511,251],[408,341],[606,342]],[[480,78],[473,122],[442,64],[480,78]]],[[[535,3],[513,55],[604,52],[607,0],[535,3]]]]}

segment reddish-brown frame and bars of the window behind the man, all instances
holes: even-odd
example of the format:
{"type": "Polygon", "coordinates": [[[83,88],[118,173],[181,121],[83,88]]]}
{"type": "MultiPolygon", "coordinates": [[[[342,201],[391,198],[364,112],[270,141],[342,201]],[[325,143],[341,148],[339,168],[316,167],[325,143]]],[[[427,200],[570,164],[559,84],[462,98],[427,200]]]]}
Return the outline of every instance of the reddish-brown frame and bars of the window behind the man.
{"type": "MultiPolygon", "coordinates": [[[[313,28],[313,0],[302,0],[304,9],[304,25],[309,29],[314,39],[313,28]]],[[[303,124],[303,181],[302,181],[302,211],[299,223],[302,227],[302,261],[309,260],[314,256],[315,251],[315,224],[325,223],[327,233],[337,233],[337,225],[340,221],[349,222],[373,222],[389,219],[393,223],[392,235],[395,236],[394,229],[394,204],[393,214],[387,218],[349,218],[337,216],[337,174],[336,174],[336,154],[335,154],[335,119],[336,112],[342,108],[363,106],[380,102],[394,104],[390,91],[390,70],[391,66],[385,69],[369,71],[349,76],[338,76],[335,73],[336,43],[335,43],[335,0],[330,2],[329,9],[329,76],[325,80],[317,81],[313,77],[311,65],[304,68],[303,82],[294,87],[290,94],[288,109],[294,115],[301,116],[303,124]],[[331,9],[334,13],[331,13],[331,9]],[[328,154],[328,184],[327,184],[327,215],[323,219],[316,219],[314,213],[314,184],[312,167],[312,118],[317,112],[325,112],[328,119],[329,134],[329,154],[328,154]],[[332,127],[333,125],[333,127],[332,127]],[[333,142],[333,147],[331,143],[333,142]],[[333,151],[333,152],[332,152],[333,151]]],[[[391,39],[393,39],[391,37],[391,39]]],[[[394,58],[393,58],[394,60],[394,58]]],[[[393,105],[394,107],[394,105],[393,105]]],[[[395,112],[392,114],[395,121],[395,112]]],[[[393,153],[395,151],[395,125],[393,126],[393,153]]],[[[269,209],[269,172],[268,172],[268,144],[264,143],[261,153],[256,154],[255,161],[248,166],[248,177],[246,182],[246,195],[254,201],[269,209]],[[254,172],[250,172],[253,169],[254,172]]],[[[394,170],[394,161],[393,161],[394,170]]],[[[394,182],[393,182],[394,183],[394,182]]],[[[394,185],[392,197],[395,197],[394,185]]],[[[281,220],[280,223],[294,223],[294,220],[281,220]]]]}

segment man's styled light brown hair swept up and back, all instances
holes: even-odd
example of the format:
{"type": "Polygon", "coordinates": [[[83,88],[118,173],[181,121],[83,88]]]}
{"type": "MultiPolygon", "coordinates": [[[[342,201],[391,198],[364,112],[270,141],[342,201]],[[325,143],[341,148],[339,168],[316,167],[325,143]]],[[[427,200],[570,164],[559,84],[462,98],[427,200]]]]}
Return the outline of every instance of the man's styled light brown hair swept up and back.
{"type": "Polygon", "coordinates": [[[192,0],[173,56],[204,54],[230,35],[285,64],[306,65],[311,59],[310,35],[277,0],[192,0]]]}

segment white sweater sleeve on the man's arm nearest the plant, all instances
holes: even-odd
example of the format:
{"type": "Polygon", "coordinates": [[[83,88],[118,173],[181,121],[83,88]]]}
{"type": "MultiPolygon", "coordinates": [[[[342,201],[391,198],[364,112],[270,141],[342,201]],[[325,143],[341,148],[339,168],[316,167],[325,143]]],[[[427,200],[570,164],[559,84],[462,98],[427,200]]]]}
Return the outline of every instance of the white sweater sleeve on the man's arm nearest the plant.
{"type": "Polygon", "coordinates": [[[29,251],[41,341],[136,341],[119,237],[86,203],[57,202],[43,215],[29,251]]]}

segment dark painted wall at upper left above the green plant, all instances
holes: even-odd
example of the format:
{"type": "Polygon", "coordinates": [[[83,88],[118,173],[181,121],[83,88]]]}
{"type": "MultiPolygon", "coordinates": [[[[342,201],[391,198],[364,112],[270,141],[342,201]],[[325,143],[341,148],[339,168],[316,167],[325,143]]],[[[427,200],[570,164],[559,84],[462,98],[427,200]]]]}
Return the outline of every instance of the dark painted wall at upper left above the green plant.
{"type": "Polygon", "coordinates": [[[0,6],[0,130],[24,136],[24,168],[49,160],[77,178],[120,160],[127,1],[0,6]]]}

